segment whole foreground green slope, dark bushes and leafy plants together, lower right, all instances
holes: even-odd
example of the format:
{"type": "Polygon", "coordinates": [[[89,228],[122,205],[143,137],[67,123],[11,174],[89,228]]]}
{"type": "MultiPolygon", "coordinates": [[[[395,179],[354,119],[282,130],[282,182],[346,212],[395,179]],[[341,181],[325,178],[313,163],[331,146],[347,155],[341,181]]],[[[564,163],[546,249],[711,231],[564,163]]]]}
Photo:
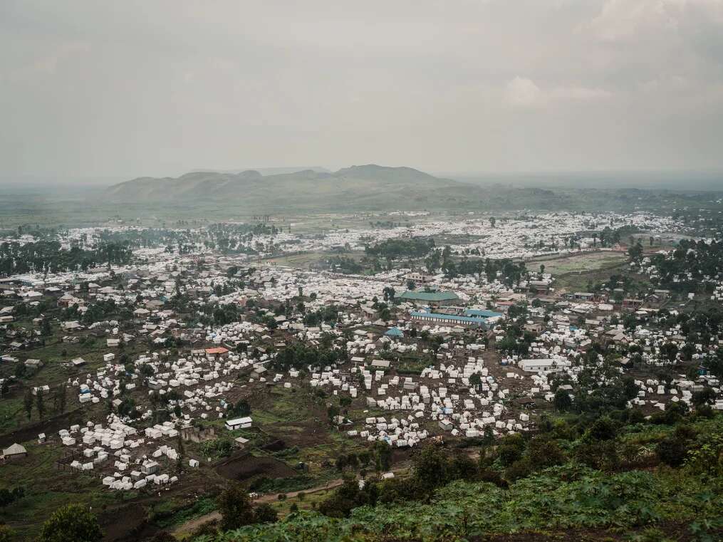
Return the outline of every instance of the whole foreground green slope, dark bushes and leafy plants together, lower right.
{"type": "Polygon", "coordinates": [[[538,436],[507,436],[484,448],[477,463],[424,447],[408,476],[363,488],[347,476],[318,512],[296,507],[273,525],[195,540],[462,541],[576,530],[602,540],[605,533],[659,533],[659,525],[676,525],[685,540],[719,539],[723,416],[660,426],[626,425],[612,415],[543,423],[538,436]]]}

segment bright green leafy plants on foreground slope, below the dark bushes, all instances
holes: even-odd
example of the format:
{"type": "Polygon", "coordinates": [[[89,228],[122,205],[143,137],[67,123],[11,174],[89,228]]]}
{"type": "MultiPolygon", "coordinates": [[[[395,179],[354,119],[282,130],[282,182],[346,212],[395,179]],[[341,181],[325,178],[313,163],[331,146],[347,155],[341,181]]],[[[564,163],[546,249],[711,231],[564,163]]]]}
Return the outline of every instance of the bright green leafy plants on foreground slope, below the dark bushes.
{"type": "Polygon", "coordinates": [[[458,481],[437,491],[430,503],[359,507],[348,518],[296,512],[278,523],[202,535],[194,542],[702,542],[719,539],[718,490],[719,481],[680,473],[610,475],[568,465],[509,489],[458,481]],[[691,536],[696,530],[699,538],[691,536]],[[682,538],[666,538],[671,531],[682,538]],[[652,538],[634,538],[640,533],[652,538]]]}

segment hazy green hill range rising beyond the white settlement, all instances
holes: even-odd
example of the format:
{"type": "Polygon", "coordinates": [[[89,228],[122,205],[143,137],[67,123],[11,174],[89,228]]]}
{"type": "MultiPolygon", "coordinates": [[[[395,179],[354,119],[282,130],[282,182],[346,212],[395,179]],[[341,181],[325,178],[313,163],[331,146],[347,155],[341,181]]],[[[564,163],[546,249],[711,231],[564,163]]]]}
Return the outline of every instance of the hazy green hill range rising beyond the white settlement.
{"type": "MultiPolygon", "coordinates": [[[[215,171],[177,178],[141,177],[109,187],[97,205],[132,205],[186,213],[364,212],[388,210],[672,210],[719,207],[711,194],[638,189],[540,189],[510,184],[469,184],[414,168],[354,165],[339,171],[307,169],[263,175],[215,171]]],[[[142,214],[142,212],[141,212],[142,214]]]]}

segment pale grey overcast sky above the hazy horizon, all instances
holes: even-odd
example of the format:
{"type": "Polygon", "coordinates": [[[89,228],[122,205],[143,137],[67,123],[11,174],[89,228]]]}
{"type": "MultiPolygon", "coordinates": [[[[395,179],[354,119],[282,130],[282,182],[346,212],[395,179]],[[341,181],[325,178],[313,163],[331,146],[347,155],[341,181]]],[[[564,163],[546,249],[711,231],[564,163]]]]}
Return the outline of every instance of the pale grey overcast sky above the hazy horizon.
{"type": "Polygon", "coordinates": [[[723,0],[0,1],[0,174],[723,168],[723,0]]]}

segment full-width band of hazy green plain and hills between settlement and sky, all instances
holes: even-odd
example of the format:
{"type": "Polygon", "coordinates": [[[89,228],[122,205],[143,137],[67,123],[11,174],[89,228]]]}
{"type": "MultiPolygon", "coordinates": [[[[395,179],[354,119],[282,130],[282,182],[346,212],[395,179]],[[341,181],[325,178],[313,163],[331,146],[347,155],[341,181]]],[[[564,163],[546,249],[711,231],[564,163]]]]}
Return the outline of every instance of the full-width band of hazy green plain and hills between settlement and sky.
{"type": "MultiPolygon", "coordinates": [[[[423,209],[451,212],[519,209],[625,212],[638,210],[641,199],[644,199],[646,210],[676,210],[677,215],[688,220],[690,225],[700,225],[703,232],[716,231],[716,223],[719,223],[716,221],[720,220],[715,214],[721,208],[721,204],[716,202],[720,196],[714,192],[578,189],[567,186],[539,189],[502,184],[455,183],[430,178],[423,173],[420,178],[407,177],[406,180],[389,176],[361,178],[362,173],[359,171],[357,176],[345,173],[341,179],[325,177],[324,174],[319,174],[318,178],[274,176],[272,182],[269,177],[256,181],[244,179],[236,184],[236,189],[242,191],[240,197],[229,197],[223,193],[215,197],[208,191],[204,176],[223,177],[223,174],[217,173],[192,173],[182,177],[183,182],[179,182],[181,179],[168,179],[165,185],[158,180],[155,181],[158,186],[152,186],[155,182],[143,179],[130,186],[127,194],[114,195],[113,198],[108,198],[102,189],[87,187],[69,189],[47,186],[43,189],[5,190],[0,194],[0,229],[15,231],[18,225],[30,222],[33,223],[33,231],[38,230],[38,225],[40,228],[46,225],[98,225],[107,223],[109,218],[154,227],[166,224],[207,225],[208,217],[219,213],[253,220],[260,214],[277,213],[288,217],[309,212],[328,213],[330,209],[340,213],[423,209]],[[186,181],[188,186],[185,186],[186,181]],[[193,186],[199,189],[187,189],[193,186]],[[145,189],[155,192],[156,197],[147,197],[143,193],[145,189]],[[169,197],[176,192],[183,196],[169,197]],[[118,201],[123,201],[123,205],[118,205],[118,201]],[[686,207],[690,210],[680,211],[686,207]],[[700,210],[711,212],[707,221],[701,220],[700,210]]],[[[322,229],[320,224],[327,228],[329,225],[327,214],[316,220],[304,218],[304,221],[312,229],[322,229]]],[[[350,224],[345,219],[335,219],[334,225],[348,227],[350,224]]],[[[368,225],[366,218],[364,225],[368,225]]]]}

